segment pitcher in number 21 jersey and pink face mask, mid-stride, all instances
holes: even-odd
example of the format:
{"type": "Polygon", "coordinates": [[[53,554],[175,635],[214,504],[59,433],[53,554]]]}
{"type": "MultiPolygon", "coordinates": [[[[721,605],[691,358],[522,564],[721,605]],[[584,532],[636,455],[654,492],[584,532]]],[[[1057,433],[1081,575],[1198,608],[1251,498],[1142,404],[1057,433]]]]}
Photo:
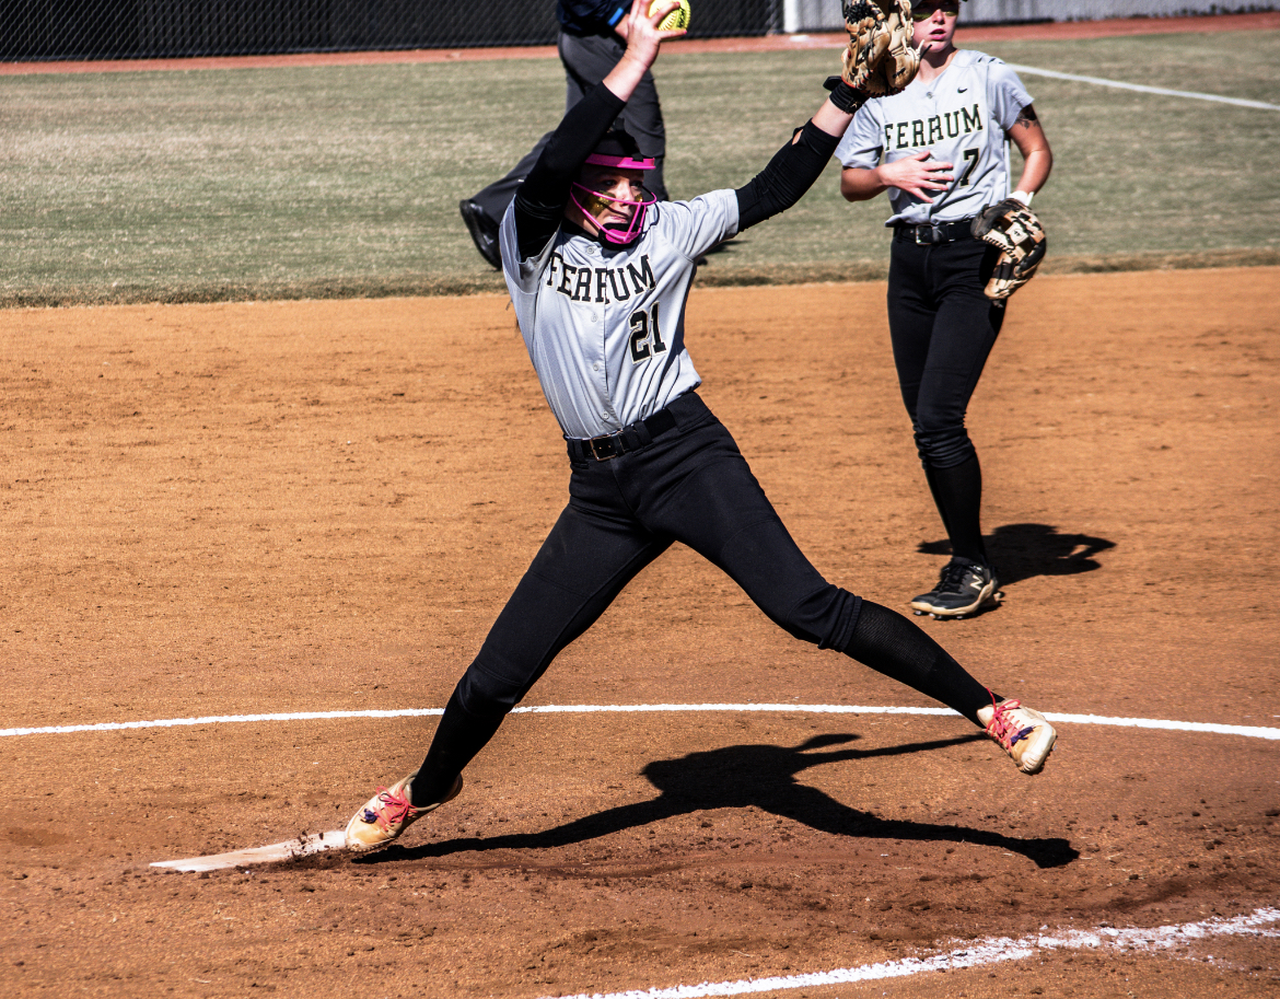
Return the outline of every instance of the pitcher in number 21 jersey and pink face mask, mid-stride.
{"type": "Polygon", "coordinates": [[[796,638],[833,648],[951,706],[1019,768],[1053,745],[1044,717],[1002,701],[901,615],[827,583],[800,552],[728,430],[695,388],[685,301],[705,250],[794,205],[822,173],[861,95],[844,83],[745,187],[659,202],[653,169],[609,132],[675,4],[635,0],[627,51],[564,115],[502,222],[507,287],[568,444],[570,502],[445,706],[426,759],[347,826],[372,850],[462,789],[462,770],[552,660],[641,569],[682,542],[796,638]],[[844,110],[842,110],[844,109],[844,110]]]}

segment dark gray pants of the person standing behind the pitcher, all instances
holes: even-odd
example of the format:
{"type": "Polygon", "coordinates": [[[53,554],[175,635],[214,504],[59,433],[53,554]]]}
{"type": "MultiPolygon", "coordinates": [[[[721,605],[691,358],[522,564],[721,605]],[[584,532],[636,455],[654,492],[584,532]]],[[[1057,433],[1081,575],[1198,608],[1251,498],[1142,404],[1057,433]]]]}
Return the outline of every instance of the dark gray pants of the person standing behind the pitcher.
{"type": "MultiPolygon", "coordinates": [[[[609,35],[570,35],[562,31],[558,44],[561,63],[564,64],[564,109],[568,110],[582,96],[604,79],[609,70],[617,65],[626,51],[623,41],[609,35]]],[[[660,201],[667,200],[667,187],[662,179],[662,161],[667,155],[667,132],[662,123],[662,108],[658,104],[658,88],[654,86],[653,74],[648,70],[636,87],[635,93],[627,101],[627,108],[622,113],[623,128],[635,138],[640,151],[645,156],[653,156],[657,168],[645,175],[645,186],[658,196],[660,201]]],[[[471,200],[484,209],[485,214],[494,220],[502,219],[507,205],[516,196],[516,190],[529,175],[529,172],[538,163],[543,146],[550,138],[550,132],[538,140],[529,154],[512,168],[511,173],[500,181],[494,181],[483,191],[476,192],[471,200]]]]}

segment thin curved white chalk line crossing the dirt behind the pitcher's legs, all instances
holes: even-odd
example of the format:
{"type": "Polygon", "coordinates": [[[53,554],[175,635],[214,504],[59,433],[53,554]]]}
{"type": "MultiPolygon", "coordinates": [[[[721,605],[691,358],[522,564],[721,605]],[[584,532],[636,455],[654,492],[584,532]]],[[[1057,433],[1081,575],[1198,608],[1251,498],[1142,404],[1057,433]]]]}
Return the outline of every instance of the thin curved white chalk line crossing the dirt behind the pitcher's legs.
{"type": "MultiPolygon", "coordinates": [[[[868,704],[540,704],[518,707],[513,715],[626,715],[675,712],[764,712],[796,715],[950,715],[951,708],[887,707],[868,704]]],[[[292,711],[278,715],[207,715],[198,719],[156,719],[152,721],[100,721],[92,725],[45,725],[29,729],[0,729],[0,736],[69,735],[86,731],[123,731],[129,729],[175,729],[191,725],[242,725],[264,721],[326,721],[332,719],[416,719],[443,715],[443,708],[394,708],[370,711],[292,711]]],[[[1044,712],[1050,721],[1069,725],[1114,725],[1125,729],[1162,729],[1166,731],[1198,731],[1211,735],[1243,735],[1248,739],[1280,739],[1280,729],[1257,725],[1219,725],[1206,721],[1172,721],[1167,719],[1123,719],[1106,715],[1062,715],[1044,712]]]]}

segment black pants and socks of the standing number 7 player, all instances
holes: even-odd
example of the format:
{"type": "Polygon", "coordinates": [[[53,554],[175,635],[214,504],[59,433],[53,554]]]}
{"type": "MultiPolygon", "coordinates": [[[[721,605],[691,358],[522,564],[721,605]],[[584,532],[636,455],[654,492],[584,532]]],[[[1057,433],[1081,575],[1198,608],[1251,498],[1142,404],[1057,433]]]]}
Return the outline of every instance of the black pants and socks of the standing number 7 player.
{"type": "Polygon", "coordinates": [[[902,402],[952,555],[991,565],[982,540],[982,467],[965,429],[969,400],[1005,320],[983,295],[998,251],[956,225],[957,240],[895,232],[888,325],[902,402]]]}

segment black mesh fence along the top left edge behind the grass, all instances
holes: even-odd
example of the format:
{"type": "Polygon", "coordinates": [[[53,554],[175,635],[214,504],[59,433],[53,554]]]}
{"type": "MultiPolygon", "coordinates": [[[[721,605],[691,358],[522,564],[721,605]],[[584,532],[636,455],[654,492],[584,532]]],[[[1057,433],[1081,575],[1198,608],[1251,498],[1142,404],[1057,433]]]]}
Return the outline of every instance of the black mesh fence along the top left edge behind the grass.
{"type": "MultiPolygon", "coordinates": [[[[783,0],[696,0],[690,36],[765,35],[783,0]]],[[[549,45],[554,0],[0,0],[0,61],[549,45]]]]}

